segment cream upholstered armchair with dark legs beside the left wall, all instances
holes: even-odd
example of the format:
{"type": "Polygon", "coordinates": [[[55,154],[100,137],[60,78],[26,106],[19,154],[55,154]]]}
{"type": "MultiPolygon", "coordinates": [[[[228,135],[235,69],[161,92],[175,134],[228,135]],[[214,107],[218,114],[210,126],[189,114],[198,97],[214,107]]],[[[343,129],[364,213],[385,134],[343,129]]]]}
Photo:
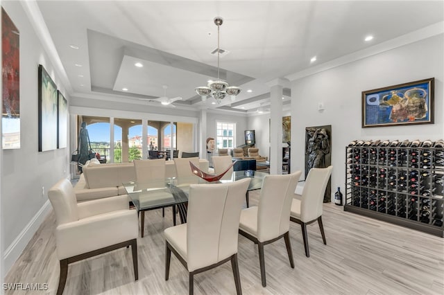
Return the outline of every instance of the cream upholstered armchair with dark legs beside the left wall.
{"type": "Polygon", "coordinates": [[[137,270],[137,212],[129,210],[128,196],[120,195],[77,203],[67,179],[48,191],[56,214],[56,249],[60,260],[57,294],[62,294],[72,262],[131,246],[135,280],[137,270]]]}

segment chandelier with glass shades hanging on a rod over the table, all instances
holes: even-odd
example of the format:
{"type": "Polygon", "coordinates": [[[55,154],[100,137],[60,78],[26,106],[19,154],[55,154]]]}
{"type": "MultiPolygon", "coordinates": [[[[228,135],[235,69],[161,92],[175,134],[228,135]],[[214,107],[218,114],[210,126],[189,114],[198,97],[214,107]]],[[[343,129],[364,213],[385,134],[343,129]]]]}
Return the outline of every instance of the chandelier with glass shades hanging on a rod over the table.
{"type": "Polygon", "coordinates": [[[227,82],[221,81],[219,78],[219,29],[223,24],[222,17],[215,17],[214,24],[217,26],[217,80],[208,82],[207,86],[196,87],[196,93],[200,95],[202,100],[207,100],[207,96],[214,98],[219,105],[221,104],[221,100],[225,98],[225,96],[230,96],[231,100],[234,101],[236,96],[241,92],[240,87],[229,86],[227,82]]]}

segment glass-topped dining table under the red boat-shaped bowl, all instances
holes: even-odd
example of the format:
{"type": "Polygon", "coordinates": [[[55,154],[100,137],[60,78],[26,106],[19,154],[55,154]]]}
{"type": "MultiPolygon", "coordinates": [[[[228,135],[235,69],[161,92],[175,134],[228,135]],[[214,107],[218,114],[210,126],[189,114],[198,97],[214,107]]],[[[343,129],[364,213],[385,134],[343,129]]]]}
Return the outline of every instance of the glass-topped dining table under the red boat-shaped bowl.
{"type": "Polygon", "coordinates": [[[165,179],[151,179],[149,181],[130,181],[123,183],[126,193],[133,202],[137,213],[140,213],[141,236],[144,237],[145,211],[158,208],[172,207],[173,225],[176,225],[176,210],[180,222],[187,222],[188,192],[191,184],[222,184],[239,179],[250,178],[250,185],[246,193],[246,205],[249,206],[248,192],[259,190],[262,181],[268,173],[255,170],[234,171],[228,179],[207,182],[200,177],[168,177],[165,179]]]}

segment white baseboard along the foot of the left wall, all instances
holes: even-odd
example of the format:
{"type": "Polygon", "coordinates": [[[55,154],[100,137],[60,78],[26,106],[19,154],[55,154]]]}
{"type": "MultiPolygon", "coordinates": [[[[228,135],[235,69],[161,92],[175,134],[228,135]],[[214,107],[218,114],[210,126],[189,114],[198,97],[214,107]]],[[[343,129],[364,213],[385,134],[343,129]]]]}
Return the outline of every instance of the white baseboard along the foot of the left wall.
{"type": "Polygon", "coordinates": [[[8,271],[12,267],[12,265],[17,261],[17,259],[22,254],[28,242],[33,238],[33,235],[39,229],[40,224],[42,224],[46,215],[48,215],[49,211],[51,211],[51,203],[49,200],[43,204],[42,208],[34,215],[28,224],[24,227],[22,232],[17,235],[17,238],[12,241],[8,248],[6,248],[5,253],[3,254],[3,271],[4,274],[8,274],[8,271]]]}

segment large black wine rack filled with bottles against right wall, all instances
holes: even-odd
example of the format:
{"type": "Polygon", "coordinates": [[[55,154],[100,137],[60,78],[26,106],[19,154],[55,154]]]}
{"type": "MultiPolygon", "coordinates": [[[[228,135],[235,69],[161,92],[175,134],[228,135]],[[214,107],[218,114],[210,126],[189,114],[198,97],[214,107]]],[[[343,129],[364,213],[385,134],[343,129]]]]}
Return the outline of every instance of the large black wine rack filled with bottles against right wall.
{"type": "Polygon", "coordinates": [[[443,141],[353,141],[345,159],[344,211],[444,237],[443,141]]]}

